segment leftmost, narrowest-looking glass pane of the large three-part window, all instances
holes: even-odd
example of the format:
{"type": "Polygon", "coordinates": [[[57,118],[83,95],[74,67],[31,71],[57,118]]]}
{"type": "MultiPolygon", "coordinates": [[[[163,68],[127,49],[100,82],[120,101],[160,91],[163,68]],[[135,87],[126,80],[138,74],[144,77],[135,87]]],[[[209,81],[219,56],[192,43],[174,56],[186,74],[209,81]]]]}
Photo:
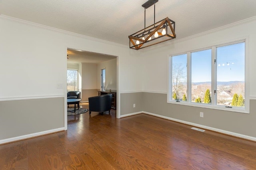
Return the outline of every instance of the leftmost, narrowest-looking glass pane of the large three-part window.
{"type": "Polygon", "coordinates": [[[187,55],[172,57],[172,100],[187,100],[187,55]]]}

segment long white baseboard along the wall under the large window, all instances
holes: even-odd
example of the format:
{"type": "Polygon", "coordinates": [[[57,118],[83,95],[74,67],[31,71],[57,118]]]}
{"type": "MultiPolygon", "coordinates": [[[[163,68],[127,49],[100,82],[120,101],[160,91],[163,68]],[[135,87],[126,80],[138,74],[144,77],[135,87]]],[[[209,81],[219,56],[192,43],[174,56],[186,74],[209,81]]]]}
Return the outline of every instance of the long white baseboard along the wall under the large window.
{"type": "Polygon", "coordinates": [[[230,136],[236,136],[236,137],[239,137],[239,138],[244,138],[244,139],[256,141],[255,137],[247,136],[247,135],[244,135],[244,134],[234,133],[234,132],[230,132],[230,131],[227,131],[227,130],[222,130],[222,129],[218,129],[218,128],[213,128],[213,127],[208,127],[208,126],[204,126],[204,125],[199,125],[199,124],[191,123],[191,122],[187,122],[187,121],[181,121],[179,119],[173,119],[173,118],[170,118],[170,117],[156,115],[154,113],[149,113],[149,112],[145,112],[145,111],[142,111],[141,113],[145,113],[145,114],[148,114],[148,115],[160,117],[160,118],[163,118],[163,119],[168,119],[168,120],[179,122],[179,123],[184,123],[184,124],[195,126],[195,127],[200,127],[200,128],[212,130],[212,131],[215,131],[215,132],[220,132],[220,133],[223,133],[223,134],[228,134],[230,136]]]}

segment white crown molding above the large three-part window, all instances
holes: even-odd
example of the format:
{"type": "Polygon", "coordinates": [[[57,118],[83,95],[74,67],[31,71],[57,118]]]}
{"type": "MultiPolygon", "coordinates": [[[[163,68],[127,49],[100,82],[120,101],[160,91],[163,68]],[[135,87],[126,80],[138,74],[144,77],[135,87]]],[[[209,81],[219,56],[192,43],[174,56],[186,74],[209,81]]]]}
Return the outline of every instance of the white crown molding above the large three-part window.
{"type": "MultiPolygon", "coordinates": [[[[244,20],[240,20],[240,21],[237,21],[237,22],[233,22],[231,24],[228,24],[228,25],[225,25],[225,26],[221,26],[221,27],[218,27],[218,28],[214,28],[212,30],[208,30],[208,31],[205,31],[205,32],[201,32],[199,34],[195,34],[193,36],[189,36],[189,37],[185,37],[185,38],[181,38],[181,39],[175,39],[173,41],[169,41],[169,42],[166,42],[166,43],[159,43],[158,45],[153,45],[150,47],[150,49],[156,49],[156,48],[159,48],[159,47],[165,47],[167,45],[172,45],[174,43],[180,43],[180,42],[184,42],[184,41],[187,41],[187,40],[191,40],[193,38],[197,38],[197,37],[200,37],[200,36],[205,36],[207,34],[212,34],[214,32],[219,32],[221,30],[225,30],[225,29],[228,29],[228,28],[232,28],[232,27],[235,27],[235,26],[239,26],[239,25],[243,25],[243,24],[247,24],[247,23],[250,23],[250,22],[254,22],[256,21],[256,16],[253,16],[253,17],[250,17],[250,18],[247,18],[247,19],[244,19],[244,20]]],[[[148,48],[147,48],[148,49],[148,48]]],[[[141,51],[144,51],[146,49],[142,49],[141,51]]],[[[146,50],[148,51],[148,50],[146,50]]]]}

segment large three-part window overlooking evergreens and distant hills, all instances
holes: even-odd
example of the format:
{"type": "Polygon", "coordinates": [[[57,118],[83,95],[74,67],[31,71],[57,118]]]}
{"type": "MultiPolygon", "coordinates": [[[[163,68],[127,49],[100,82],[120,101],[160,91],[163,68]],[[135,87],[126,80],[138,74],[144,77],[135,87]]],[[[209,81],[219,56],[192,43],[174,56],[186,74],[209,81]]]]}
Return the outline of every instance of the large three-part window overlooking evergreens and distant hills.
{"type": "Polygon", "coordinates": [[[168,102],[248,113],[245,45],[244,40],[170,56],[168,102]]]}

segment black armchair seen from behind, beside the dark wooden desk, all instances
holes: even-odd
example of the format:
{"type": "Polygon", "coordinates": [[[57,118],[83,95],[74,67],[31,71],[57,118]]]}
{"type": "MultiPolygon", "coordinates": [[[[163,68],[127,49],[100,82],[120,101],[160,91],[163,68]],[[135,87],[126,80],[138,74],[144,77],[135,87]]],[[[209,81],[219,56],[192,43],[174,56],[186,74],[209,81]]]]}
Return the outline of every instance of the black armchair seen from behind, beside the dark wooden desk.
{"type": "Polygon", "coordinates": [[[89,97],[89,113],[92,111],[100,112],[103,115],[104,111],[110,113],[112,104],[112,94],[89,97]]]}

